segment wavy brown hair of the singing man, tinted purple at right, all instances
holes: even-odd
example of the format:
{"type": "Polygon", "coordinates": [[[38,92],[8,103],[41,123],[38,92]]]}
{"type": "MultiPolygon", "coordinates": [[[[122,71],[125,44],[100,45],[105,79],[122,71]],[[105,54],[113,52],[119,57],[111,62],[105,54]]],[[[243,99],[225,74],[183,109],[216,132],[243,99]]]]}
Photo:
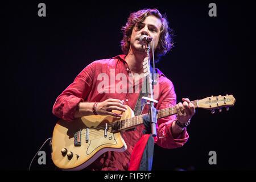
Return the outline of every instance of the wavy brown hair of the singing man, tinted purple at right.
{"type": "Polygon", "coordinates": [[[168,51],[174,47],[174,42],[172,40],[172,29],[168,27],[167,16],[164,14],[160,14],[157,9],[143,9],[131,13],[129,18],[127,19],[127,23],[125,26],[121,28],[123,32],[123,39],[121,40],[121,48],[123,53],[127,55],[130,49],[130,41],[131,32],[136,23],[142,23],[147,16],[154,15],[156,18],[159,18],[162,22],[162,27],[160,29],[160,38],[158,47],[155,49],[156,61],[160,59],[161,56],[166,55],[168,51]]]}

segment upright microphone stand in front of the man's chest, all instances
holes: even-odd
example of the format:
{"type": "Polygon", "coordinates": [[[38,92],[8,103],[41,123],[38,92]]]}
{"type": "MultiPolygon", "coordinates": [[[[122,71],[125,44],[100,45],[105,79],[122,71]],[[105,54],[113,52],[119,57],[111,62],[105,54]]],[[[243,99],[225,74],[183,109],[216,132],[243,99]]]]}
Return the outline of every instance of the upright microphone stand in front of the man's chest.
{"type": "MultiPolygon", "coordinates": [[[[154,47],[153,47],[154,48],[154,47]]],[[[148,57],[148,66],[150,67],[150,43],[148,42],[146,46],[146,53],[148,57]]],[[[152,73],[151,77],[151,70],[148,69],[148,75],[147,75],[147,87],[149,89],[149,94],[150,94],[150,123],[151,123],[151,134],[153,137],[156,137],[156,123],[157,123],[157,118],[156,118],[156,109],[154,107],[154,97],[153,97],[153,88],[154,88],[154,83],[155,83],[155,74],[154,70],[152,73]]],[[[157,101],[156,101],[157,102],[157,101]]]]}

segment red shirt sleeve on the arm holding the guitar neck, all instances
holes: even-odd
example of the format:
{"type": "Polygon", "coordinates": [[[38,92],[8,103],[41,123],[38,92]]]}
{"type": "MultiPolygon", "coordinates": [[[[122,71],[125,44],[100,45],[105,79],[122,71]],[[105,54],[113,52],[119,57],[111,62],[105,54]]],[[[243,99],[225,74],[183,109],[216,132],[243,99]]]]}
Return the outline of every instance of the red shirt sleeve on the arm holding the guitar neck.
{"type": "MultiPolygon", "coordinates": [[[[174,85],[170,80],[163,82],[162,94],[159,98],[158,105],[156,109],[166,109],[167,107],[172,107],[176,105],[176,93],[174,90],[174,85]]],[[[188,140],[187,129],[183,130],[178,138],[174,138],[171,132],[172,122],[176,119],[175,115],[170,115],[165,118],[158,120],[158,137],[156,144],[163,148],[177,148],[183,146],[188,140]]]]}

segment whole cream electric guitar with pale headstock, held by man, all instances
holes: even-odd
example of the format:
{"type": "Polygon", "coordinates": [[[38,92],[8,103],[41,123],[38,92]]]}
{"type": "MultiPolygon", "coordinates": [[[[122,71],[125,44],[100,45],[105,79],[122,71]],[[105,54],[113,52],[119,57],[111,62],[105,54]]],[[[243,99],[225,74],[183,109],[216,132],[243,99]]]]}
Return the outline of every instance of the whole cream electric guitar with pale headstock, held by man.
{"type": "MultiPolygon", "coordinates": [[[[192,103],[196,108],[221,111],[222,107],[229,110],[236,99],[232,95],[207,97],[192,103]]],[[[127,105],[126,105],[127,106],[127,105]]],[[[52,134],[52,160],[55,166],[63,170],[80,170],[94,162],[106,151],[123,152],[127,146],[121,136],[122,131],[133,129],[143,124],[143,115],[134,117],[133,110],[127,106],[121,118],[110,115],[89,115],[73,122],[60,120],[52,134]]],[[[176,114],[175,106],[158,111],[157,118],[176,114]]]]}

